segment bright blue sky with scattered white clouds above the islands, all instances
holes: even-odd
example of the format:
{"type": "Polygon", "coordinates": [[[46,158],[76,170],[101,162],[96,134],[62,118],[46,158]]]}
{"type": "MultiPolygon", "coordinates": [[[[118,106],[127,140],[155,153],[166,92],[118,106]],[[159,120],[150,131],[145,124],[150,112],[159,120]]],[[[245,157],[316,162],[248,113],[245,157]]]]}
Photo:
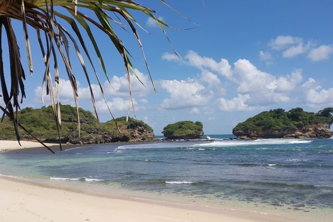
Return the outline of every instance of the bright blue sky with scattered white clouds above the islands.
{"type": "MultiPolygon", "coordinates": [[[[309,112],[318,112],[333,106],[332,1],[167,1],[188,19],[160,1],[138,2],[156,10],[157,17],[175,28],[166,28],[171,46],[156,21],[133,12],[147,31],[137,27],[156,94],[134,35],[113,23],[134,57],[132,63],[146,86],[132,76],[135,118],[149,124],[155,135],[162,135],[167,124],[181,120],[203,122],[205,134],[231,134],[237,123],[264,110],[302,107],[309,112]],[[173,53],[172,47],[180,57],[173,53]]],[[[47,97],[45,103],[41,103],[45,66],[38,42],[34,40],[36,34],[29,29],[34,61],[34,73],[30,77],[21,27],[21,23],[14,22],[27,74],[27,99],[21,107],[49,105],[47,97]]],[[[123,61],[105,34],[92,30],[104,56],[110,81],[117,91],[106,81],[93,46],[83,34],[108,105],[116,117],[126,116],[129,93],[123,61]]],[[[6,53],[6,39],[3,41],[6,53]]],[[[93,110],[87,81],[75,58],[74,47],[71,53],[79,82],[79,106],[93,110]]],[[[9,64],[6,54],[4,63],[9,64]]],[[[87,69],[99,118],[102,122],[110,120],[93,69],[88,64],[87,69]]],[[[8,67],[5,71],[8,73],[8,67]]],[[[60,102],[74,105],[66,76],[64,67],[60,67],[60,102]]],[[[134,117],[132,111],[130,117],[134,117]]]]}

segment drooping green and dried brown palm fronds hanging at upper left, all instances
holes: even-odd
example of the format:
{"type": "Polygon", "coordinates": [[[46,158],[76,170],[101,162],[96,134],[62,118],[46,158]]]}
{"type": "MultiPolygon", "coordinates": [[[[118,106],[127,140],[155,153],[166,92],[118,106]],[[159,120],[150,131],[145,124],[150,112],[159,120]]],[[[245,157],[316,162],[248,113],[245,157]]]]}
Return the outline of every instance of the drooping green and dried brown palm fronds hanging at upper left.
{"type": "MultiPolygon", "coordinates": [[[[169,5],[167,5],[167,3],[164,0],[160,1],[161,3],[169,7],[169,5]]],[[[103,57],[100,53],[100,50],[97,46],[97,42],[91,31],[90,28],[91,26],[105,33],[108,36],[110,43],[112,43],[116,47],[119,55],[122,57],[129,82],[129,97],[130,97],[129,101],[132,101],[132,92],[130,86],[131,85],[130,71],[134,73],[135,76],[137,75],[130,61],[131,57],[130,53],[124,47],[122,40],[117,36],[117,33],[115,33],[113,28],[114,24],[123,27],[124,26],[123,23],[127,24],[127,26],[130,27],[130,31],[134,34],[141,48],[143,58],[146,62],[146,57],[141,44],[141,40],[136,30],[136,27],[140,28],[142,27],[137,23],[136,19],[131,15],[130,11],[141,12],[146,16],[156,20],[158,26],[166,34],[164,28],[169,26],[166,23],[164,23],[164,21],[158,19],[154,15],[155,11],[132,0],[0,0],[0,80],[2,87],[2,95],[0,95],[0,97],[3,97],[3,100],[6,105],[5,107],[0,106],[0,109],[2,109],[4,112],[3,118],[5,117],[5,115],[7,115],[13,121],[18,143],[20,141],[20,137],[18,134],[19,127],[28,132],[28,134],[31,135],[31,133],[29,132],[28,129],[26,129],[23,125],[19,123],[19,119],[17,116],[18,110],[20,109],[20,103],[22,103],[23,99],[26,97],[25,85],[24,85],[26,74],[21,64],[20,50],[17,45],[15,30],[13,29],[12,26],[12,19],[20,20],[23,23],[30,75],[32,75],[33,73],[33,61],[32,61],[30,39],[28,35],[27,26],[30,26],[37,33],[37,39],[33,40],[39,42],[41,54],[43,56],[43,61],[45,63],[45,73],[43,75],[43,81],[42,81],[42,95],[44,95],[45,90],[47,95],[50,95],[51,105],[53,108],[53,114],[55,118],[56,127],[58,130],[59,143],[60,143],[59,130],[61,127],[61,114],[60,114],[60,105],[59,105],[60,101],[59,101],[58,57],[60,57],[59,60],[64,63],[66,73],[73,88],[73,96],[77,110],[77,128],[78,128],[78,134],[80,134],[80,117],[78,113],[78,102],[77,102],[77,97],[78,97],[77,83],[76,83],[75,74],[73,72],[70,63],[69,47],[71,43],[74,45],[77,58],[82,65],[87,83],[90,86],[92,103],[97,120],[98,120],[98,114],[96,110],[94,94],[91,87],[91,80],[86,70],[85,62],[81,54],[82,49],[84,54],[86,55],[86,58],[88,59],[88,62],[93,68],[95,77],[97,78],[100,90],[102,92],[103,98],[106,103],[103,88],[95,69],[95,64],[91,59],[90,52],[88,52],[86,48],[86,40],[83,39],[81,33],[85,32],[87,34],[90,42],[94,47],[95,53],[100,61],[100,65],[102,66],[103,72],[107,80],[109,80],[105,69],[103,57]],[[96,15],[97,19],[93,19],[91,16],[88,16],[85,13],[94,14],[96,15]],[[110,15],[111,13],[113,16],[110,15]],[[110,21],[112,23],[110,23],[110,21]],[[64,28],[66,23],[70,25],[72,29],[71,31],[68,31],[64,28]],[[4,74],[4,63],[3,63],[3,52],[2,52],[3,28],[5,29],[8,42],[8,49],[9,49],[8,56],[10,60],[10,77],[11,77],[10,80],[6,79],[4,74]],[[51,65],[54,66],[53,69],[54,73],[52,74],[50,70],[51,65]],[[55,86],[53,85],[53,81],[55,83],[55,86]],[[10,88],[7,88],[7,86],[10,86],[10,88]]],[[[146,62],[146,67],[151,79],[150,70],[147,62],[146,62]]],[[[153,84],[152,79],[151,82],[153,84]]],[[[43,97],[42,97],[42,102],[43,102],[43,97]]],[[[133,103],[129,102],[128,109],[130,108],[130,104],[133,103]]],[[[112,115],[109,107],[108,110],[112,115]]],[[[36,137],[34,138],[38,140],[38,138],[36,137]]],[[[42,143],[41,141],[39,142],[42,143]]],[[[47,147],[46,145],[44,146],[47,147]]],[[[52,151],[49,147],[47,148],[50,151],[52,151]]],[[[61,144],[60,144],[60,150],[61,150],[61,144]]]]}

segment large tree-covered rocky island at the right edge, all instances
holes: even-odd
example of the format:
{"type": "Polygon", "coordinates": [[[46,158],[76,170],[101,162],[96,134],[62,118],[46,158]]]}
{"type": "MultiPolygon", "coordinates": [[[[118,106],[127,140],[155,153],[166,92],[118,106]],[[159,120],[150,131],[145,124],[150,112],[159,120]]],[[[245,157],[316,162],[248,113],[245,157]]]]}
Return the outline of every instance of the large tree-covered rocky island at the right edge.
{"type": "Polygon", "coordinates": [[[238,123],[232,133],[237,139],[330,138],[333,136],[330,130],[332,112],[333,107],[318,113],[305,112],[302,108],[287,112],[282,108],[273,109],[238,123]]]}

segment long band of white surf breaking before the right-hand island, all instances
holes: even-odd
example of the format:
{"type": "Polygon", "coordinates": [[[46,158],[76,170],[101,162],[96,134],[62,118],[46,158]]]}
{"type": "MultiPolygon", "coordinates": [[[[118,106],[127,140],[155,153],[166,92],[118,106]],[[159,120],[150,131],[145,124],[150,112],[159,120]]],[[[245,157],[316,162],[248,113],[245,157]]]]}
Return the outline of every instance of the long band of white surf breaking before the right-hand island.
{"type": "Polygon", "coordinates": [[[298,144],[298,143],[311,143],[312,140],[302,139],[258,139],[258,140],[223,140],[214,141],[212,143],[195,144],[194,146],[244,146],[244,145],[264,145],[264,144],[298,144]]]}

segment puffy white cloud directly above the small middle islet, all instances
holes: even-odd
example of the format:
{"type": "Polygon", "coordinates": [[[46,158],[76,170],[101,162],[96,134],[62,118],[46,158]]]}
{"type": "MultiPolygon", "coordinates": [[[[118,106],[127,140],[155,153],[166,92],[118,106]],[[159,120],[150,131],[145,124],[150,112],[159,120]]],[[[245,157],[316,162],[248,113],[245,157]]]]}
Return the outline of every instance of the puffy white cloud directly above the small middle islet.
{"type": "Polygon", "coordinates": [[[204,85],[193,79],[181,80],[161,80],[161,87],[164,88],[170,97],[163,100],[163,109],[181,109],[195,106],[203,106],[209,102],[212,92],[204,85]]]}

